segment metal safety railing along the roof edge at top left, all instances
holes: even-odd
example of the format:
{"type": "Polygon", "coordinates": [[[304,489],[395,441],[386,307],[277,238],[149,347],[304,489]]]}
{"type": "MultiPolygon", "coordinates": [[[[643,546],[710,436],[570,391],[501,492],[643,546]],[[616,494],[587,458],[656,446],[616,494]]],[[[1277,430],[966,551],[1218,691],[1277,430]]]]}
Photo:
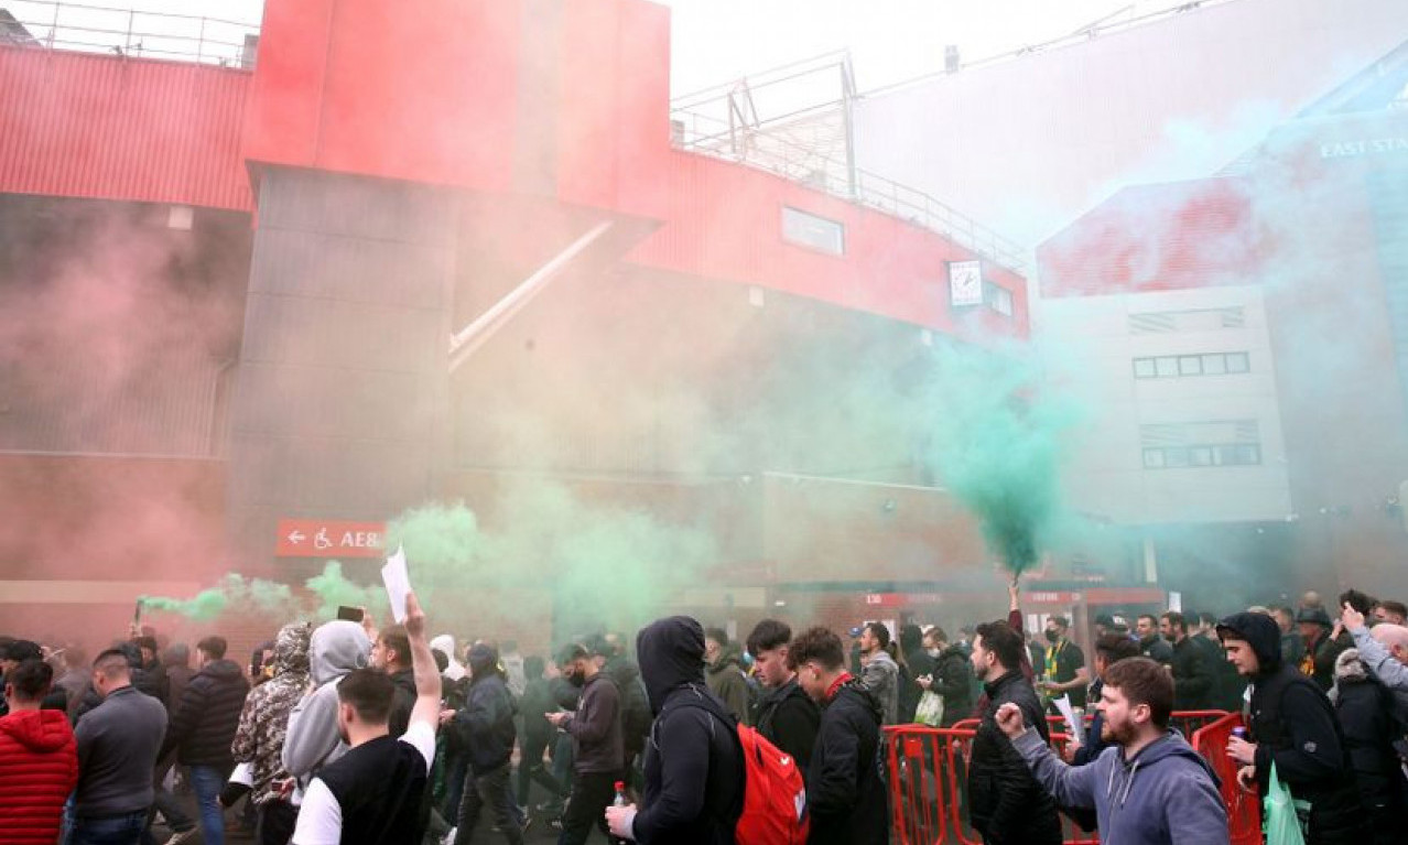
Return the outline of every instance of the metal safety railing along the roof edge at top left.
{"type": "Polygon", "coordinates": [[[259,25],[54,0],[4,0],[0,44],[252,69],[259,25]]]}

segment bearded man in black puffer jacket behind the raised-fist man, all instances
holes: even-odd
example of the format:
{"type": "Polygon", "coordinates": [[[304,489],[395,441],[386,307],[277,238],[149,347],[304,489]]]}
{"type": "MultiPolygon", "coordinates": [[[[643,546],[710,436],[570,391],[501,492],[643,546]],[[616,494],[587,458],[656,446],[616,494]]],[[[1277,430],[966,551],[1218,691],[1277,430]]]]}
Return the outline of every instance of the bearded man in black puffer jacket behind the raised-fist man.
{"type": "Polygon", "coordinates": [[[997,727],[997,710],[1017,704],[1028,727],[1049,739],[1036,690],[1022,676],[1022,637],[1007,622],[977,627],[973,672],[986,704],[969,762],[969,821],[988,845],[1060,845],[1060,820],[1050,794],[1036,783],[1022,755],[997,727]]]}

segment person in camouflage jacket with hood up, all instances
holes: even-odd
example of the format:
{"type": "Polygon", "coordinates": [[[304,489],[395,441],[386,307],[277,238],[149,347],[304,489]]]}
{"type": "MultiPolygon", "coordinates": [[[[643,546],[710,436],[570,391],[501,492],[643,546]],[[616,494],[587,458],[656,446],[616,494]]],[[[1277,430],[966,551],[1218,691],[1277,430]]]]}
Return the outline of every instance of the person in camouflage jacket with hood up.
{"type": "Polygon", "coordinates": [[[289,714],[313,683],[308,675],[311,637],[313,625],[308,622],[293,622],[279,630],[273,645],[275,675],[245,699],[231,744],[235,762],[252,768],[251,800],[259,808],[259,841],[263,845],[287,842],[298,815],[280,791],[280,782],[289,777],[282,753],[289,714]]]}

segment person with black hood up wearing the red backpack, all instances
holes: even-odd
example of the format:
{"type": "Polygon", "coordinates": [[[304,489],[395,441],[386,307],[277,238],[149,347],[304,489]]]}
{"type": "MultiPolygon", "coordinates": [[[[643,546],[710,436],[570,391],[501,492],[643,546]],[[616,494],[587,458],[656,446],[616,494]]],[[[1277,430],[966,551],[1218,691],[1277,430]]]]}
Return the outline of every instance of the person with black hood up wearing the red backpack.
{"type": "Polygon", "coordinates": [[[607,807],[611,834],[643,845],[731,845],[743,811],[738,722],[704,684],[704,627],[667,617],[635,641],[655,714],[641,807],[607,807]]]}

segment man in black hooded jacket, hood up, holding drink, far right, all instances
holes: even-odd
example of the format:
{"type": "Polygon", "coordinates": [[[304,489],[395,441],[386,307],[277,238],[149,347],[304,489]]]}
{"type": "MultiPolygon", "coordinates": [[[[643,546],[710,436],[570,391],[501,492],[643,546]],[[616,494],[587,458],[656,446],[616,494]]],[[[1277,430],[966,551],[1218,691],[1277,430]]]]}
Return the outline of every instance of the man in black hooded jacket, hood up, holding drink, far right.
{"type": "Polygon", "coordinates": [[[1218,622],[1218,637],[1228,661],[1252,682],[1249,737],[1228,741],[1228,756],[1242,765],[1238,780],[1255,780],[1264,796],[1274,763],[1291,796],[1311,804],[1307,845],[1370,842],[1335,711],[1314,680],[1281,662],[1276,620],[1232,614],[1218,622]]]}

